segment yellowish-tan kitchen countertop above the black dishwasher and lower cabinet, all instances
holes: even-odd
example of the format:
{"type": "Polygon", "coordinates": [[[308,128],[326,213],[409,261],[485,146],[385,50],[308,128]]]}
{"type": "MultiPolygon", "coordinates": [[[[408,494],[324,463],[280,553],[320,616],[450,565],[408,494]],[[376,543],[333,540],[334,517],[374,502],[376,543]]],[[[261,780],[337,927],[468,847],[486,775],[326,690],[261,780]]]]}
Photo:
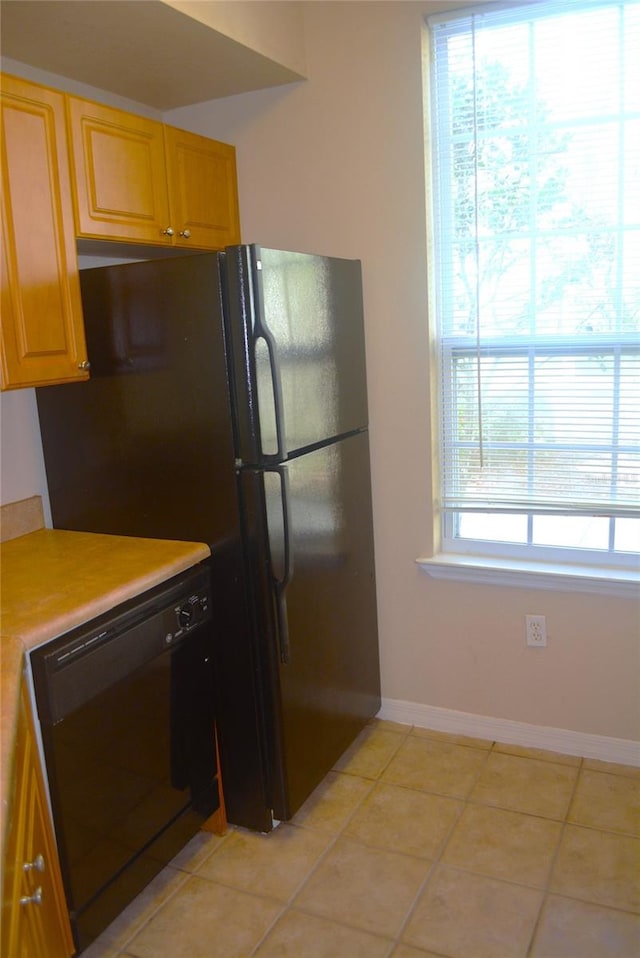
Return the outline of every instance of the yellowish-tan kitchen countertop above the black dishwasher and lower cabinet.
{"type": "Polygon", "coordinates": [[[0,835],[4,852],[24,653],[191,568],[207,545],[38,529],[0,546],[0,835]]]}

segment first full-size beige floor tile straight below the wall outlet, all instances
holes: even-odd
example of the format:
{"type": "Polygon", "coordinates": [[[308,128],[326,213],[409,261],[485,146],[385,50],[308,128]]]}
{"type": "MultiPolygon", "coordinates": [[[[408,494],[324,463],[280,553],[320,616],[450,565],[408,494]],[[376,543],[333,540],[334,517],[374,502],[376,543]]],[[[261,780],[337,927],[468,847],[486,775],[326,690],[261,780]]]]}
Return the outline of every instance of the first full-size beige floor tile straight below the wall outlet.
{"type": "Polygon", "coordinates": [[[563,820],[578,769],[517,755],[489,755],[470,798],[542,818],[563,820]]]}

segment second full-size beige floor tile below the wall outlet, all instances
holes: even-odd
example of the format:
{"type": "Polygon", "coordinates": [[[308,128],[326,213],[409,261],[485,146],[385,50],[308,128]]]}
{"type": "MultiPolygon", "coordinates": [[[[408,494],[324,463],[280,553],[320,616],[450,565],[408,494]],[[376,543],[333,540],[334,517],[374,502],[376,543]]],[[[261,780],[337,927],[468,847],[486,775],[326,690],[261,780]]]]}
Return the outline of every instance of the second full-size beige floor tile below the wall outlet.
{"type": "Polygon", "coordinates": [[[467,871],[543,888],[562,824],[521,812],[467,805],[442,861],[467,871]]]}

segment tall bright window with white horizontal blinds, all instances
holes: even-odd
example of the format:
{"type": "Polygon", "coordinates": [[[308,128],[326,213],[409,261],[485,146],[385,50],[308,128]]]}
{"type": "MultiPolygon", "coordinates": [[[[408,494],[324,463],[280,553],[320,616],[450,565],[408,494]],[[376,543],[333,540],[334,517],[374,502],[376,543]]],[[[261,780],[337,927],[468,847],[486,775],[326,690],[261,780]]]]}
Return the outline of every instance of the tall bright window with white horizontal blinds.
{"type": "Polygon", "coordinates": [[[430,27],[443,552],[635,567],[640,3],[430,27]]]}

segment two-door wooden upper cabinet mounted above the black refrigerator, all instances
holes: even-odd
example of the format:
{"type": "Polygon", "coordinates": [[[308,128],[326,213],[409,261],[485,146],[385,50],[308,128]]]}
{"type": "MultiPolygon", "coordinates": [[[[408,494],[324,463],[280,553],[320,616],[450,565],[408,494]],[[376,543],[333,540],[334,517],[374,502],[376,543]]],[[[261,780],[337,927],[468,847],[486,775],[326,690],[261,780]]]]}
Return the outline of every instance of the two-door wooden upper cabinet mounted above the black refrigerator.
{"type": "Polygon", "coordinates": [[[221,249],[240,242],[235,150],[67,97],[79,236],[221,249]]]}

